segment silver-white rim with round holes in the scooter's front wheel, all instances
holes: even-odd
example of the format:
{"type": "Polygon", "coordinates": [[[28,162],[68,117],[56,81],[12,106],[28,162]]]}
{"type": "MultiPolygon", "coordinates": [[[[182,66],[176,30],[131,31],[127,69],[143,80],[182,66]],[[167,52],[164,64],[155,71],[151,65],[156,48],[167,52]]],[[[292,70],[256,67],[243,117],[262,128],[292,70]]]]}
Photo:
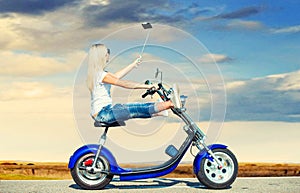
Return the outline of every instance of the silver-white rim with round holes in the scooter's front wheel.
{"type": "Polygon", "coordinates": [[[206,159],[204,162],[204,173],[206,177],[214,183],[221,184],[227,182],[234,173],[234,162],[226,153],[214,152],[214,154],[222,163],[223,167],[219,168],[215,162],[206,159]]]}

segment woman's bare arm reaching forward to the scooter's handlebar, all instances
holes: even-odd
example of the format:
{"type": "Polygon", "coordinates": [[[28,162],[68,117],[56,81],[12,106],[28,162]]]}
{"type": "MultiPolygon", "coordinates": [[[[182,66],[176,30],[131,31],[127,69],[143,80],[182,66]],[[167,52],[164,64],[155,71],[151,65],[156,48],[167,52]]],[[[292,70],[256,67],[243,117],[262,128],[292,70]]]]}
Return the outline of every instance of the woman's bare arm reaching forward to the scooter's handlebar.
{"type": "Polygon", "coordinates": [[[106,74],[102,82],[120,86],[123,88],[128,88],[128,89],[151,89],[155,87],[154,85],[146,85],[146,84],[141,84],[133,81],[121,80],[116,75],[109,72],[106,74]]]}

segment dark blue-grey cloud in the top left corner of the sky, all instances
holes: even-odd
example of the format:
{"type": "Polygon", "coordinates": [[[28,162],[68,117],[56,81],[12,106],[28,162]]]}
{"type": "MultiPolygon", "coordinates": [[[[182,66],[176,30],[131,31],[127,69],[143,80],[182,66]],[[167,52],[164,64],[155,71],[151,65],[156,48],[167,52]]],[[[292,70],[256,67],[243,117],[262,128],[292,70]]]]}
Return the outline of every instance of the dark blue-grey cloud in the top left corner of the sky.
{"type": "Polygon", "coordinates": [[[53,0],[53,1],[0,1],[0,13],[21,13],[37,15],[46,11],[53,11],[65,5],[72,5],[79,0],[53,0]]]}

